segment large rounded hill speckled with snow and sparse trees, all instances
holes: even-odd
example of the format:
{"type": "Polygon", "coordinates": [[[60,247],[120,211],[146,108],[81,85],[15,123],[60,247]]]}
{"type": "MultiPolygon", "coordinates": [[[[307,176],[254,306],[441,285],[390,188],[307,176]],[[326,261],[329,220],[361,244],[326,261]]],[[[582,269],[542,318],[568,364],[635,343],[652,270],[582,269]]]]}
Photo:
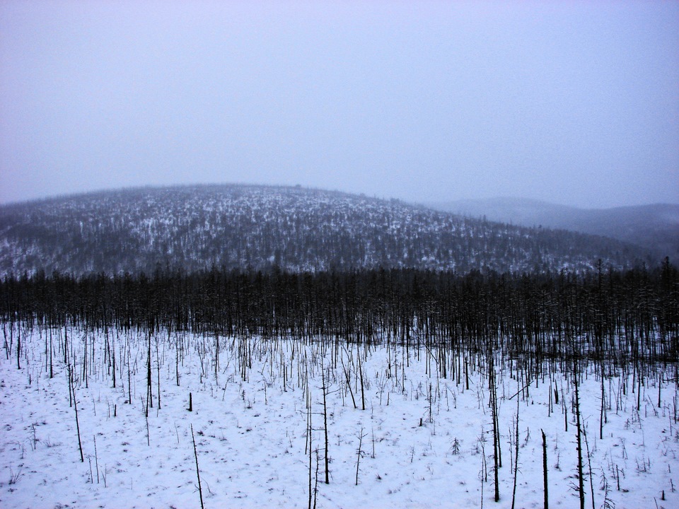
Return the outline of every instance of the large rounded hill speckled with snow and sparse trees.
{"type": "Polygon", "coordinates": [[[300,187],[149,187],[0,206],[0,276],[213,266],[557,271],[597,259],[649,260],[616,240],[300,187]]]}

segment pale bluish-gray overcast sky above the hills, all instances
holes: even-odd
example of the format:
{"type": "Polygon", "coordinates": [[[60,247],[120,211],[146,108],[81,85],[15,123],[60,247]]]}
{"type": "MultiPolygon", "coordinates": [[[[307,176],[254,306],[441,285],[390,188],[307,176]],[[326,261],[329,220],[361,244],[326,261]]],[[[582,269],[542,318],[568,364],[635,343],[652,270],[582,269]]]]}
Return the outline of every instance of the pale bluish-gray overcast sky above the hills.
{"type": "Polygon", "coordinates": [[[679,1],[0,2],[0,202],[679,203],[679,1]]]}

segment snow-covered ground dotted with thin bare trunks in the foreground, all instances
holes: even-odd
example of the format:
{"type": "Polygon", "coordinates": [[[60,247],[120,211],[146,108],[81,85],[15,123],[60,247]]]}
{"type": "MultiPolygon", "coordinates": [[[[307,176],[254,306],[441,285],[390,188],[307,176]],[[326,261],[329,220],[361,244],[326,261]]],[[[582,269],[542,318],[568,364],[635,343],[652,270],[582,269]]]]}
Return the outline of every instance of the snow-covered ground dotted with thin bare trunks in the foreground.
{"type": "MultiPolygon", "coordinates": [[[[60,333],[54,331],[54,337],[60,333]]],[[[219,340],[215,370],[214,337],[190,334],[182,338],[185,357],[177,366],[177,338],[168,341],[167,334],[158,334],[151,349],[153,407],[146,418],[148,337],[108,334],[116,352],[115,389],[111,359],[103,358],[104,334],[69,329],[76,344],[74,392],[84,462],[58,341],[53,342],[54,378],[45,362],[45,332],[22,337],[21,369],[16,337],[11,358],[0,359],[0,507],[200,507],[192,429],[206,508],[306,507],[307,401],[313,428],[311,480],[317,489],[311,498],[318,508],[509,507],[517,411],[516,507],[542,507],[541,429],[547,438],[550,506],[579,506],[573,387],[560,373],[531,380],[517,408],[521,382],[517,385],[507,366],[498,369],[502,467],[501,498],[495,504],[487,373],[470,370],[467,388],[457,373],[454,379],[451,373],[441,378],[435,357],[424,350],[418,355],[410,349],[407,355],[393,345],[366,351],[364,346],[331,344],[323,352],[319,344],[293,339],[226,338],[219,340]],[[240,360],[246,352],[252,365],[243,380],[240,360]],[[322,365],[330,484],[324,482],[322,365]],[[126,403],[128,376],[131,404],[126,403]],[[187,410],[189,394],[192,411],[187,410]]],[[[673,373],[666,373],[665,380],[673,373]]],[[[626,394],[624,382],[605,380],[603,440],[600,379],[589,370],[580,386],[584,447],[591,458],[591,466],[584,464],[586,506],[679,507],[679,493],[673,490],[679,485],[676,382],[663,380],[659,408],[657,378],[645,381],[640,399],[632,392],[631,375],[626,394]]]]}

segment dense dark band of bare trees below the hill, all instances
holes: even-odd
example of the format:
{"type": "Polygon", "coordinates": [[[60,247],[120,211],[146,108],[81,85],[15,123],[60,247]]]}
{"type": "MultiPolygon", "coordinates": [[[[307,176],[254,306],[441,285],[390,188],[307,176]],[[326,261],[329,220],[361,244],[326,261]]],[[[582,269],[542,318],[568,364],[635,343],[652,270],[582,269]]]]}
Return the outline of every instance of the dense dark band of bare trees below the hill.
{"type": "Polygon", "coordinates": [[[147,276],[54,272],[0,281],[0,317],[28,327],[392,341],[497,349],[537,363],[582,358],[676,363],[679,274],[603,267],[583,274],[361,269],[227,270],[147,276]]]}

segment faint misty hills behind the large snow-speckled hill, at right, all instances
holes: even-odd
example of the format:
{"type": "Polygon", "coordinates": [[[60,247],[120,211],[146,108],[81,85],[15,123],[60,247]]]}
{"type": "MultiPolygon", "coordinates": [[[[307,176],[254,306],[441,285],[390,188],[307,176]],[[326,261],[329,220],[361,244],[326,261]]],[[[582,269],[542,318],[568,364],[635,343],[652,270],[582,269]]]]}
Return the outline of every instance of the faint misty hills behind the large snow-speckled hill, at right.
{"type": "Polygon", "coordinates": [[[429,204],[467,217],[520,226],[562,228],[603,235],[651,251],[656,259],[679,259],[679,205],[652,204],[613,209],[578,209],[521,198],[468,199],[429,204]]]}

